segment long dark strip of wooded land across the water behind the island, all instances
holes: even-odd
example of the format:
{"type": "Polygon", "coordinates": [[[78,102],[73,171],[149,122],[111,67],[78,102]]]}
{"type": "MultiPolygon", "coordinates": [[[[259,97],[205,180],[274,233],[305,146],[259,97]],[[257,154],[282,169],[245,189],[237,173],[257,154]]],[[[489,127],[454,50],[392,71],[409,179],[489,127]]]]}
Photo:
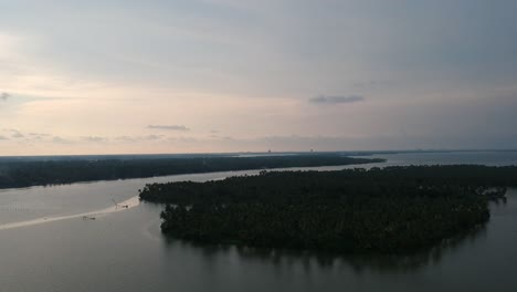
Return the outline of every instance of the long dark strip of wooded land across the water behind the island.
{"type": "Polygon", "coordinates": [[[189,157],[0,163],[0,188],[60,185],[179,174],[261,168],[335,166],[380,163],[383,159],[351,158],[337,154],[263,157],[189,157]]]}

